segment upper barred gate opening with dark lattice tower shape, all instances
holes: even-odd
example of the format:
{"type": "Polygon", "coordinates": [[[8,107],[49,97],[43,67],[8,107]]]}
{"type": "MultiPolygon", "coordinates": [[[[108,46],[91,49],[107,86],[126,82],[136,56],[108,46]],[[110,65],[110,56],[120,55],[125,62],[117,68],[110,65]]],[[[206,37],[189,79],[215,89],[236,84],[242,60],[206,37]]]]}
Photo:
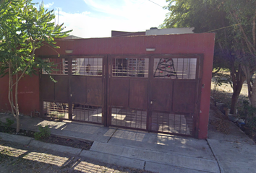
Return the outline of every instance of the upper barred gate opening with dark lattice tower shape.
{"type": "Polygon", "coordinates": [[[154,77],[166,79],[195,79],[197,58],[155,58],[154,77]]]}

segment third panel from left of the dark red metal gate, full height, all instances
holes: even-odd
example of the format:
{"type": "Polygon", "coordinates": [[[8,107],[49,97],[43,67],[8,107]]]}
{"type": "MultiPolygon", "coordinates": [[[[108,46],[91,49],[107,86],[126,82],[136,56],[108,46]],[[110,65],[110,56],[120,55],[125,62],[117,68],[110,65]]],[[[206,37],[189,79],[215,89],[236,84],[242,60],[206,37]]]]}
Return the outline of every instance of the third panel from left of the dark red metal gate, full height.
{"type": "Polygon", "coordinates": [[[108,58],[108,125],[147,130],[148,66],[143,56],[108,58]]]}

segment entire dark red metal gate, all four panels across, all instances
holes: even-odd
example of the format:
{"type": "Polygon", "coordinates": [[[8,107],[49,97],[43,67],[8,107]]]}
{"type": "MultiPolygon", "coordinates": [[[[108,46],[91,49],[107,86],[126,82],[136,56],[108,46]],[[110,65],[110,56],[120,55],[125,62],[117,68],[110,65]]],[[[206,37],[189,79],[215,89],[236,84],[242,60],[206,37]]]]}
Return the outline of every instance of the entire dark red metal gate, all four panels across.
{"type": "Polygon", "coordinates": [[[46,117],[197,136],[201,55],[46,58],[40,77],[46,117]]]}

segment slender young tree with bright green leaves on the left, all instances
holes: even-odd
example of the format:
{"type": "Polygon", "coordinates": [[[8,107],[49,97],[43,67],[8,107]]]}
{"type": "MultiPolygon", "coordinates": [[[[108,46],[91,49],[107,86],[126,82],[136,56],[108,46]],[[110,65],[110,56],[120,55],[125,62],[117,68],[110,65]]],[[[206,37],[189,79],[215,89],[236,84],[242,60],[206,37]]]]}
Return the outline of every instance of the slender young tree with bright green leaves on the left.
{"type": "Polygon", "coordinates": [[[62,25],[54,25],[54,12],[38,9],[32,0],[3,0],[0,4],[0,75],[9,75],[8,99],[12,115],[20,131],[20,111],[17,90],[25,74],[36,74],[36,68],[51,71],[51,63],[35,57],[35,50],[43,45],[59,48],[54,38],[66,37],[62,25]]]}

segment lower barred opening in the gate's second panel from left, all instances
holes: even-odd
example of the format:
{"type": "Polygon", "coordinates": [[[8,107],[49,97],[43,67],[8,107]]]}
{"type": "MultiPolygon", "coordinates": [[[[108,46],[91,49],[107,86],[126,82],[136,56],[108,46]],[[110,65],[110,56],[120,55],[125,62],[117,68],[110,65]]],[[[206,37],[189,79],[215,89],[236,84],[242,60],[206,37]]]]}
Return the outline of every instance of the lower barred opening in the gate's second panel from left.
{"type": "Polygon", "coordinates": [[[72,117],[73,120],[102,123],[102,107],[74,104],[72,117]]]}

